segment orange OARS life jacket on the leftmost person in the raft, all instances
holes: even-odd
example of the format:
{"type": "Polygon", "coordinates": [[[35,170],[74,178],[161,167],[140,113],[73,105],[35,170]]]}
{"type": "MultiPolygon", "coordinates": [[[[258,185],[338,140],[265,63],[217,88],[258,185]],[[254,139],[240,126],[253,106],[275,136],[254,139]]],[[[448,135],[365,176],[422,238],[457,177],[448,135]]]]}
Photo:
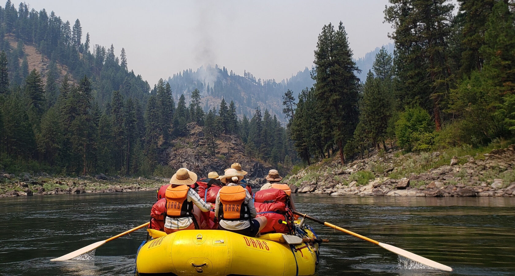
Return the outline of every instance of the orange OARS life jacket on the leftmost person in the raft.
{"type": "Polygon", "coordinates": [[[187,185],[169,185],[166,188],[166,216],[192,217],[193,202],[188,202],[188,191],[190,187],[187,185]]]}

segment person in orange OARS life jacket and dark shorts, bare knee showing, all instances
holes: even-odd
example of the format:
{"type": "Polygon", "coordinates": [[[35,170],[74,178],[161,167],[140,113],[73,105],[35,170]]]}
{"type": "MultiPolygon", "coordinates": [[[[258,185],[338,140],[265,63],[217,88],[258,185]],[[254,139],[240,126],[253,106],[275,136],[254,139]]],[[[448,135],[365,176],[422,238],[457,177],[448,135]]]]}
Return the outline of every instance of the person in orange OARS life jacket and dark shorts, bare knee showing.
{"type": "Polygon", "coordinates": [[[239,185],[243,179],[236,169],[228,169],[220,177],[227,184],[216,196],[215,216],[220,220],[218,229],[255,237],[265,227],[266,217],[256,217],[250,193],[239,185]]]}

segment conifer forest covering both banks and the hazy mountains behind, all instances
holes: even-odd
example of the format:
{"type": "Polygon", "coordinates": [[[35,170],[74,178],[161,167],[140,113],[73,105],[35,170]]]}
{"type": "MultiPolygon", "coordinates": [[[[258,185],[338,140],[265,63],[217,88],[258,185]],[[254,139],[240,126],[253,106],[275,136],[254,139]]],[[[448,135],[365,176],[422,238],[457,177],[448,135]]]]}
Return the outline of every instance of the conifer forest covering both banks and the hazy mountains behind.
{"type": "Polygon", "coordinates": [[[124,48],[90,45],[79,19],[9,0],[0,7],[0,170],[159,175],[192,125],[212,158],[221,154],[216,140],[232,136],[283,171],[330,157],[347,163],[373,148],[513,139],[515,2],[390,0],[384,19],[394,51],[382,48],[368,72],[345,26],[328,22],[312,70],[287,81],[213,65],[151,85],[128,70],[124,48]],[[29,70],[27,46],[44,72],[29,70]],[[197,76],[207,71],[212,82],[197,76]],[[282,102],[268,106],[272,96],[282,102]]]}

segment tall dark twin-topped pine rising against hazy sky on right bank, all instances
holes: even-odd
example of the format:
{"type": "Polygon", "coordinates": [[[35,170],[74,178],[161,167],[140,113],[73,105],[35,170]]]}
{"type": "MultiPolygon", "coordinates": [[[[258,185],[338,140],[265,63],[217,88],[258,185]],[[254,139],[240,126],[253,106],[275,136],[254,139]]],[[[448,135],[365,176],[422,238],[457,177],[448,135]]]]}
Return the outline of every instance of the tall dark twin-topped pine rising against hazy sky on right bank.
{"type": "Polygon", "coordinates": [[[322,139],[328,152],[333,143],[339,148],[342,164],[345,164],[345,143],[352,138],[357,124],[357,100],[360,72],[352,60],[352,50],[347,33],[340,22],[338,30],[329,24],[322,28],[315,50],[315,93],[317,108],[321,112],[322,139]]]}

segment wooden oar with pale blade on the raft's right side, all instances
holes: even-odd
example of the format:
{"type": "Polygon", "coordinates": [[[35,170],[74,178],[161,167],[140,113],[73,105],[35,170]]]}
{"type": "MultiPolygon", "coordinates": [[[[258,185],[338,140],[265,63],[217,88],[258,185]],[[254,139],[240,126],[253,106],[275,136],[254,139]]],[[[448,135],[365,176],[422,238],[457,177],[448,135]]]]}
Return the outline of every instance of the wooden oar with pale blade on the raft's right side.
{"type": "Polygon", "coordinates": [[[404,249],[401,249],[401,248],[398,248],[398,247],[394,247],[392,245],[387,245],[387,244],[383,244],[383,243],[380,243],[379,241],[377,240],[373,240],[371,238],[367,238],[365,236],[362,236],[362,235],[359,235],[359,234],[356,234],[352,231],[349,231],[347,229],[344,229],[344,228],[341,228],[341,227],[338,227],[338,226],[335,226],[335,225],[332,225],[331,223],[327,222],[327,221],[321,221],[320,219],[317,219],[317,218],[314,218],[314,217],[310,217],[306,214],[302,214],[300,212],[297,212],[297,211],[294,211],[294,214],[297,214],[301,217],[305,217],[307,219],[310,219],[310,220],[313,220],[317,223],[320,223],[321,225],[324,225],[324,226],[328,226],[328,227],[331,227],[331,228],[334,228],[336,230],[339,230],[341,232],[345,232],[349,235],[353,235],[355,237],[358,237],[358,238],[361,238],[361,239],[364,239],[366,241],[369,241],[370,243],[372,244],[376,244],[376,245],[379,245],[380,247],[386,249],[386,250],[389,250],[393,253],[396,253],[396,254],[399,254],[403,257],[406,257],[406,258],[409,258],[410,260],[413,260],[415,262],[419,262],[421,264],[424,264],[426,266],[430,266],[430,267],[433,267],[433,268],[436,268],[436,269],[440,269],[440,270],[444,270],[444,271],[452,271],[452,268],[449,267],[449,266],[446,266],[446,265],[442,265],[440,263],[437,263],[435,261],[431,261],[429,260],[428,258],[425,258],[425,257],[422,257],[422,256],[419,256],[415,253],[411,253],[409,251],[406,251],[404,249]]]}

